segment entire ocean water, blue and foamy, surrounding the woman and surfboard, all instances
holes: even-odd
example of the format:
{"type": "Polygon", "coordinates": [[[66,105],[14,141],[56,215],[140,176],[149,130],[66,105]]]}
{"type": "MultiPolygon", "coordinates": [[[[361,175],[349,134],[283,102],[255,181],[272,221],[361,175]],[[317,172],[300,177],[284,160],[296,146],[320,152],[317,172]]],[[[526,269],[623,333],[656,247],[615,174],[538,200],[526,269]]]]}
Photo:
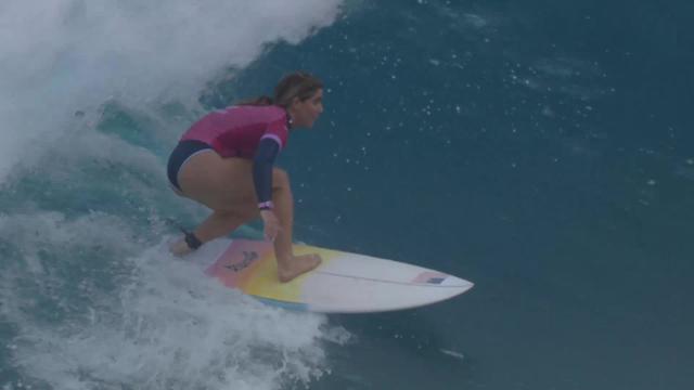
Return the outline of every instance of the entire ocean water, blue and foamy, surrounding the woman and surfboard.
{"type": "Polygon", "coordinates": [[[693,11],[7,2],[0,386],[689,389],[693,11]],[[297,68],[326,94],[279,162],[296,239],[449,272],[470,292],[299,314],[166,253],[175,224],[206,214],[167,187],[178,135],[297,68]]]}

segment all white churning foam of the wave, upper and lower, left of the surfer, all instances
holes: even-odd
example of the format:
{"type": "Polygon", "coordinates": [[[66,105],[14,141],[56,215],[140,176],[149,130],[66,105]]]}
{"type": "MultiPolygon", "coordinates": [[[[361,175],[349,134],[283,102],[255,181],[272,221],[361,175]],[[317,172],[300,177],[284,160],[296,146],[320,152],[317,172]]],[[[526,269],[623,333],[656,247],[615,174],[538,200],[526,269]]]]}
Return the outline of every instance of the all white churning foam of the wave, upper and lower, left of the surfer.
{"type": "MultiPolygon", "coordinates": [[[[138,200],[124,202],[123,211],[151,208],[156,219],[165,188],[160,161],[95,132],[93,122],[86,125],[95,119],[91,108],[112,98],[128,107],[169,100],[194,106],[205,82],[247,65],[269,42],[296,43],[330,25],[339,3],[3,0],[0,185],[17,162],[41,160],[48,164],[36,176],[40,191],[60,188],[56,205],[68,202],[72,187],[77,198],[102,191],[138,200]],[[87,115],[75,117],[76,110],[87,115]],[[111,172],[94,170],[99,165],[137,174],[94,178],[93,171],[111,172]],[[146,177],[162,182],[138,182],[146,177]]],[[[34,210],[31,194],[22,195],[22,212],[0,214],[0,234],[15,250],[3,259],[0,310],[17,332],[12,369],[38,385],[277,389],[319,377],[327,369],[323,344],[349,338],[324,316],[272,309],[223,288],[200,265],[170,258],[164,244],[143,250],[133,237],[156,226],[142,226],[137,212],[66,216],[34,210]],[[73,280],[69,270],[83,278],[73,280]],[[42,321],[41,300],[63,317],[42,321]]]]}

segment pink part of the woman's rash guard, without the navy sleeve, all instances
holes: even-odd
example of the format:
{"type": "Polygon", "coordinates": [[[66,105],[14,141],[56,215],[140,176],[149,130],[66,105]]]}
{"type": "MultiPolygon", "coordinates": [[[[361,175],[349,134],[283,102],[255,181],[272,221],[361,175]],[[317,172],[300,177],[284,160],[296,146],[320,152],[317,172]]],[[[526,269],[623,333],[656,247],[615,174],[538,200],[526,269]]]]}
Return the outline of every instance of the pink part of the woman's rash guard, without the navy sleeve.
{"type": "Polygon", "coordinates": [[[181,141],[202,141],[222,157],[254,158],[260,140],[274,140],[282,150],[288,131],[284,108],[242,105],[207,114],[181,136],[181,141]]]}

